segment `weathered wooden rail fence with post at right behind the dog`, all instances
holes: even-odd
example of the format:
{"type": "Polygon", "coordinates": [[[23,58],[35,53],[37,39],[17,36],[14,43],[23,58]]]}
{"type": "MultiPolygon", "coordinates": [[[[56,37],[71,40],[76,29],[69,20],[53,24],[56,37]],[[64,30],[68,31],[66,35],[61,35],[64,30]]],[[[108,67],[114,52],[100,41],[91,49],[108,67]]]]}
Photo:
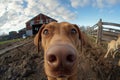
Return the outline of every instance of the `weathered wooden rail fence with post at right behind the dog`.
{"type": "Polygon", "coordinates": [[[91,35],[96,38],[96,43],[101,44],[102,41],[116,40],[118,34],[120,34],[120,24],[102,22],[102,19],[97,24],[91,27],[91,35]],[[104,25],[112,26],[110,28],[104,27],[104,25]],[[115,29],[117,27],[117,29],[115,29]]]}

